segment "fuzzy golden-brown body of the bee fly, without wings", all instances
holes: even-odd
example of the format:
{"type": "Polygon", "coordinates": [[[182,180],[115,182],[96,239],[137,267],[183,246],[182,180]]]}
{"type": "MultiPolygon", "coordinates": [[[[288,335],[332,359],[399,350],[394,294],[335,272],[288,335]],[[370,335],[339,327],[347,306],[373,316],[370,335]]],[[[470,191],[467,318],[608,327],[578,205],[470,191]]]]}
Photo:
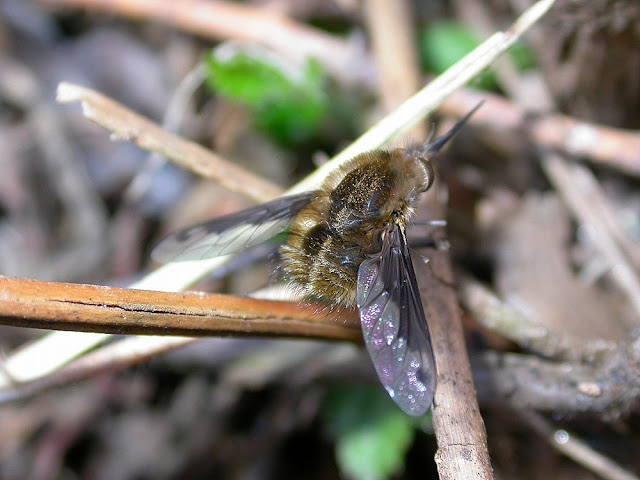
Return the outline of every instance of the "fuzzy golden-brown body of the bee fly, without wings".
{"type": "Polygon", "coordinates": [[[423,163],[403,150],[359,155],[330,175],[294,218],[282,267],[311,298],[353,306],[358,267],[402,226],[430,182],[423,163]]]}

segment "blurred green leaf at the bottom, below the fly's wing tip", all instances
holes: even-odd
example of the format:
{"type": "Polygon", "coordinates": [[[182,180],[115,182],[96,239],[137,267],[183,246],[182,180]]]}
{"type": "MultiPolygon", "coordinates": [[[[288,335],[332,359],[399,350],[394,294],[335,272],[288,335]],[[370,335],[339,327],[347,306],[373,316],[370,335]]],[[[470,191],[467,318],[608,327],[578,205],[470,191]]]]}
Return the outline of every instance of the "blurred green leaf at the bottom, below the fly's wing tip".
{"type": "Polygon", "coordinates": [[[413,420],[384,390],[336,390],[327,398],[324,420],[336,439],[336,460],[346,477],[383,480],[403,470],[413,441],[413,420]]]}

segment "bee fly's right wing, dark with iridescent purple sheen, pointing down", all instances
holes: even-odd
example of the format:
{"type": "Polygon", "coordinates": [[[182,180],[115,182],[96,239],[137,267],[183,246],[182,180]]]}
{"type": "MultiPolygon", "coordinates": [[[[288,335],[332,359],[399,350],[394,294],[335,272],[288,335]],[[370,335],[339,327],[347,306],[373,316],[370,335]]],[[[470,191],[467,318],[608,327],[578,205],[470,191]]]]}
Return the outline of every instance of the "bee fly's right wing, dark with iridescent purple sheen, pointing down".
{"type": "Polygon", "coordinates": [[[400,226],[358,270],[356,303],[367,351],[391,398],[408,415],[426,413],[436,389],[431,337],[400,226]]]}

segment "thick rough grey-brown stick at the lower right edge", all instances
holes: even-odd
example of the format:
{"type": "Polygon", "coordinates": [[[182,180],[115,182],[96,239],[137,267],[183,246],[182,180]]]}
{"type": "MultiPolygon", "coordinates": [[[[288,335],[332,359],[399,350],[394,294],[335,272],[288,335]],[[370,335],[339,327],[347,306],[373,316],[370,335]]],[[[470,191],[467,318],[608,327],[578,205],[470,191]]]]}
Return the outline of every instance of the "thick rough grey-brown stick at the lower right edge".
{"type": "Polygon", "coordinates": [[[640,337],[632,333],[615,350],[591,362],[487,351],[473,357],[478,395],[504,405],[571,416],[597,415],[611,422],[640,402],[640,337]]]}

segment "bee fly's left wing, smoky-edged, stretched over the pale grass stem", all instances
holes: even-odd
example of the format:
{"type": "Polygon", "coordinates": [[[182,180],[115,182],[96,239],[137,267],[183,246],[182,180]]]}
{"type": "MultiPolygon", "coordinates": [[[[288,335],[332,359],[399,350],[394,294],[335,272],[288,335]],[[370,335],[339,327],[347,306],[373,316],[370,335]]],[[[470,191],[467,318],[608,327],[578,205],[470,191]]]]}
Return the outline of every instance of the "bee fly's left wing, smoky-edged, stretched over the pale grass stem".
{"type": "Polygon", "coordinates": [[[156,262],[202,260],[239,252],[284,231],[315,192],[281,197],[172,233],[155,246],[156,262]]]}

